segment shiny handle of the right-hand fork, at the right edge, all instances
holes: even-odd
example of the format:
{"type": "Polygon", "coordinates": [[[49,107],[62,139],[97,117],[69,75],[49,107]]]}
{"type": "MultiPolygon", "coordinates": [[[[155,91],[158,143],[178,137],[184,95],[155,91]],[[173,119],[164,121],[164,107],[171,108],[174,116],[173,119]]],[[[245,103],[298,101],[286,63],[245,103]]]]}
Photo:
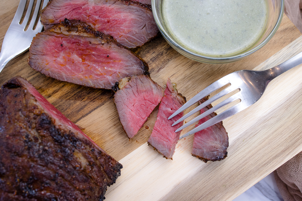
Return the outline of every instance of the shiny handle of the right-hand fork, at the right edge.
{"type": "Polygon", "coordinates": [[[275,66],[274,68],[268,69],[268,74],[271,81],[275,77],[281,75],[282,73],[288,71],[291,68],[294,68],[295,66],[302,64],[302,52],[299,54],[293,56],[292,58],[288,59],[287,61],[284,61],[282,64],[279,64],[278,66],[275,66]]]}

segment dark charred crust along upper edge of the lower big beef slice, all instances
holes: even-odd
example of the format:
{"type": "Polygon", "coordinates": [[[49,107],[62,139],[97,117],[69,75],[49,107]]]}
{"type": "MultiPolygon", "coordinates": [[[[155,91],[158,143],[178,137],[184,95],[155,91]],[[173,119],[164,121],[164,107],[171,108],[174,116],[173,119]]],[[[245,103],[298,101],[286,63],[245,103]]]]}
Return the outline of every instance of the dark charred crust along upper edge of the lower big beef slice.
{"type": "Polygon", "coordinates": [[[143,69],[143,74],[144,75],[150,75],[149,66],[146,63],[146,61],[144,61],[142,58],[140,58],[139,55],[132,52],[129,48],[127,48],[127,47],[123,46],[122,44],[118,43],[116,41],[116,39],[114,39],[112,36],[95,30],[94,28],[92,28],[90,25],[88,25],[87,23],[85,23],[83,21],[69,20],[67,18],[65,18],[65,20],[62,21],[60,24],[53,25],[53,27],[51,27],[48,30],[53,30],[56,27],[60,27],[60,26],[64,26],[64,27],[68,28],[68,32],[76,31],[77,33],[88,33],[88,34],[91,34],[92,36],[95,36],[97,38],[100,38],[100,39],[106,41],[107,43],[115,43],[118,47],[120,47],[122,49],[128,49],[133,55],[135,55],[136,57],[138,57],[140,59],[142,69],[143,69]]]}

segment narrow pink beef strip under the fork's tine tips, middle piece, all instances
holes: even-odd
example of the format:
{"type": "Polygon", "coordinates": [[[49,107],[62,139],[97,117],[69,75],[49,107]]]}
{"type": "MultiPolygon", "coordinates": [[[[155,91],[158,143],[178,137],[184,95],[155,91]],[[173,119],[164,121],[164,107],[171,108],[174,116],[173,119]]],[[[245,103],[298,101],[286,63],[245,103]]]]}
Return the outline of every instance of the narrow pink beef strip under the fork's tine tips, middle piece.
{"type": "Polygon", "coordinates": [[[175,133],[175,130],[182,126],[183,121],[173,127],[172,124],[181,118],[184,113],[182,112],[170,120],[168,120],[168,117],[186,102],[186,98],[177,92],[176,85],[173,84],[169,78],[167,80],[165,96],[159,105],[157,119],[148,140],[148,144],[164,155],[166,159],[172,159],[181,132],[175,133]]]}

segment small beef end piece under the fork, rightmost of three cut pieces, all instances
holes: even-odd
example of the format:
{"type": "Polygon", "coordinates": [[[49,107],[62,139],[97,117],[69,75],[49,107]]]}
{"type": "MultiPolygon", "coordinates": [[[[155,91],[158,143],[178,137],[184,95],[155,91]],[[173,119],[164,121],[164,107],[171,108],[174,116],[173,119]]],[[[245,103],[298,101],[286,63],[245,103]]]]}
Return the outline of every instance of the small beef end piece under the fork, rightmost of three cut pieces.
{"type": "MultiPolygon", "coordinates": [[[[199,104],[205,102],[208,97],[203,98],[199,104]]],[[[200,114],[212,108],[212,105],[208,105],[200,110],[200,114]]],[[[215,117],[215,112],[207,115],[199,120],[199,126],[210,118],[215,117]]],[[[229,137],[226,129],[222,125],[222,121],[207,127],[204,130],[198,131],[194,134],[193,149],[191,154],[204,162],[207,161],[221,161],[227,156],[227,147],[229,146],[229,137]]]]}

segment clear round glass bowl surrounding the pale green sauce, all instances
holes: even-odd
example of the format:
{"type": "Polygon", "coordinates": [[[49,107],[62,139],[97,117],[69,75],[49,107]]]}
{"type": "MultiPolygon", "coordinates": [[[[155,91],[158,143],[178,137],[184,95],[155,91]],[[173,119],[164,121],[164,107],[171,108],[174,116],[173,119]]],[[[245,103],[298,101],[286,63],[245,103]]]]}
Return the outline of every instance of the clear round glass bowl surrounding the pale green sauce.
{"type": "Polygon", "coordinates": [[[264,46],[276,33],[283,16],[284,0],[267,0],[267,3],[268,19],[266,27],[264,28],[264,32],[262,33],[260,39],[258,39],[254,44],[252,44],[248,49],[227,56],[209,56],[199,54],[188,49],[187,47],[182,45],[182,43],[178,42],[175,38],[173,38],[173,35],[169,33],[169,29],[166,27],[165,21],[163,20],[162,0],[152,0],[152,12],[155,22],[159,27],[160,33],[177,52],[195,61],[210,64],[222,64],[238,61],[240,59],[243,59],[247,55],[252,54],[253,52],[260,49],[262,46],[264,46]]]}

